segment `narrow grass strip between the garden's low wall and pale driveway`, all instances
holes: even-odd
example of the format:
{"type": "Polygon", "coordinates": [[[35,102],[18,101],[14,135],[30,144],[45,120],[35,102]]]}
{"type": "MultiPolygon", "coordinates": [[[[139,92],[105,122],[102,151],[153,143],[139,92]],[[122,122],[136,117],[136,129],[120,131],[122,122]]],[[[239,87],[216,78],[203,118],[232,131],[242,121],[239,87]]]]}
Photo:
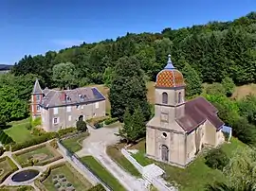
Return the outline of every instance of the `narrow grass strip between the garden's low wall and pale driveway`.
{"type": "Polygon", "coordinates": [[[95,160],[94,157],[85,156],[82,157],[81,160],[83,164],[89,166],[89,168],[114,191],[126,190],[106,168],[104,168],[98,161],[95,160]]]}

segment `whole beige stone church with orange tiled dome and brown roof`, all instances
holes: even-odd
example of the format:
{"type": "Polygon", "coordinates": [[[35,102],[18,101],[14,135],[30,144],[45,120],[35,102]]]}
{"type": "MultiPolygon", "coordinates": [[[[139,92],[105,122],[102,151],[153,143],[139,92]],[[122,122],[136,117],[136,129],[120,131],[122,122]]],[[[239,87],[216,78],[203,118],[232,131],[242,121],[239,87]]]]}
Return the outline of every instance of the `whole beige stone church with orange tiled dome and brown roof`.
{"type": "Polygon", "coordinates": [[[155,82],[155,116],[146,125],[146,154],[185,167],[205,147],[224,143],[224,122],[204,97],[185,101],[183,75],[169,55],[155,82]]]}

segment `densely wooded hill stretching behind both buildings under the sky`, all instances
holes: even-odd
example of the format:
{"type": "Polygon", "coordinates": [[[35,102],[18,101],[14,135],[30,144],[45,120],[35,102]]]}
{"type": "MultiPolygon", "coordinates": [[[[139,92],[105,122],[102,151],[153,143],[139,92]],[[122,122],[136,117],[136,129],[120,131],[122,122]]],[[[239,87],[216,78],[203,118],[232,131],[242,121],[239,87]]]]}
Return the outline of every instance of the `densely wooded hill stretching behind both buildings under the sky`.
{"type": "Polygon", "coordinates": [[[160,33],[127,33],[116,41],[82,43],[46,55],[25,56],[15,63],[11,73],[20,76],[36,74],[48,87],[54,87],[52,68],[61,62],[75,65],[73,85],[109,84],[117,61],[134,57],[145,77],[155,80],[167,55],[180,69],[188,62],[203,82],[219,82],[229,77],[236,84],[256,80],[256,12],[232,22],[210,22],[206,25],[165,28],[160,33]]]}

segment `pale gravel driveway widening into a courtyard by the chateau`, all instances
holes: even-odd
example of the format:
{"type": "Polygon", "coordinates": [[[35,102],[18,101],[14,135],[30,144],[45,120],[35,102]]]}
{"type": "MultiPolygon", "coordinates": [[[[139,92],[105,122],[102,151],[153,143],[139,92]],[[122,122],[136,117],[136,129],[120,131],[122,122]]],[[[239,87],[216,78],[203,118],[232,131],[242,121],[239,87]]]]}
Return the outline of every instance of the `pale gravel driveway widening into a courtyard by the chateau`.
{"type": "Polygon", "coordinates": [[[97,158],[101,162],[101,165],[106,167],[127,190],[148,190],[145,186],[147,184],[146,181],[143,179],[137,179],[127,173],[106,154],[105,150],[107,146],[114,145],[119,142],[119,137],[115,135],[119,129],[101,128],[99,130],[94,130],[91,127],[88,127],[88,130],[90,132],[90,136],[82,142],[83,148],[76,154],[79,157],[92,155],[97,158]]]}

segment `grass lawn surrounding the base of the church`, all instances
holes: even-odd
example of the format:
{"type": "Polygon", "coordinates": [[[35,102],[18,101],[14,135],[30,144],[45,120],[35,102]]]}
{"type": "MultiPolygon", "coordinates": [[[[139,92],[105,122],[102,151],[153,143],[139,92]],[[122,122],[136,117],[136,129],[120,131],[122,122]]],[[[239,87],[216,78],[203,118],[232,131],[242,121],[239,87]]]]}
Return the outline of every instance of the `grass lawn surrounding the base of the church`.
{"type": "MultiPolygon", "coordinates": [[[[221,148],[232,157],[232,151],[238,147],[245,147],[245,145],[239,140],[232,138],[231,144],[225,143],[221,148]]],[[[137,154],[133,154],[133,157],[140,165],[150,165],[155,163],[159,165],[166,172],[166,181],[176,182],[179,185],[181,191],[203,191],[208,183],[216,181],[222,182],[225,180],[225,176],[220,170],[214,170],[205,165],[204,157],[202,153],[192,162],[191,165],[185,169],[174,167],[172,165],[166,165],[156,162],[152,159],[145,157],[145,140],[139,142],[136,146],[132,147],[139,150],[137,154]]]]}

